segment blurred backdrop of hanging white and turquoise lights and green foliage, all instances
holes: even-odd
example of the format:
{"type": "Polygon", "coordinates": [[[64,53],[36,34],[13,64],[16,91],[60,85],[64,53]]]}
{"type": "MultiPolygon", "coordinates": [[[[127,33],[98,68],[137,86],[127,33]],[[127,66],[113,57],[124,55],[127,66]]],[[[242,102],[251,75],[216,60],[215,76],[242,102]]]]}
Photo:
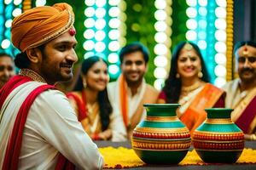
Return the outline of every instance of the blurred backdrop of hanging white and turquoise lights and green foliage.
{"type": "Polygon", "coordinates": [[[220,87],[236,77],[234,43],[256,41],[255,0],[0,0],[0,52],[19,53],[10,42],[15,16],[54,3],[69,3],[76,14],[75,72],[82,59],[96,54],[108,60],[111,81],[120,73],[119,49],[138,41],[150,51],[146,81],[160,89],[172,48],[189,40],[201,48],[212,83],[220,87]]]}

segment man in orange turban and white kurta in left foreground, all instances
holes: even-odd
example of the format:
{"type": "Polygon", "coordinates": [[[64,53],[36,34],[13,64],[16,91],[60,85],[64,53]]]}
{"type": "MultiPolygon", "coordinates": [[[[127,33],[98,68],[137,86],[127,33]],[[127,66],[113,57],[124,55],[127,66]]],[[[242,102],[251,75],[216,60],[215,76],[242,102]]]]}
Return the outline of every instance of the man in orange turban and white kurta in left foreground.
{"type": "Polygon", "coordinates": [[[77,44],[67,3],[32,8],[13,20],[19,75],[0,91],[0,168],[100,169],[97,150],[55,83],[73,77],[77,44]]]}

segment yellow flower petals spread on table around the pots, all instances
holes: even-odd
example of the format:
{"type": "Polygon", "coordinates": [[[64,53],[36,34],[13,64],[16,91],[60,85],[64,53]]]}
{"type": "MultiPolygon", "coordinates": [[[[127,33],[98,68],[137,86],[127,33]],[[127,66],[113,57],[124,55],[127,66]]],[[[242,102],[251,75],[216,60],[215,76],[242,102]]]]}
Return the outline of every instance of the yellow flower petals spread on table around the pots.
{"type": "MultiPolygon", "coordinates": [[[[134,150],[124,147],[100,148],[100,152],[105,161],[104,168],[127,168],[127,167],[143,167],[146,164],[140,160],[134,150]]],[[[239,163],[256,163],[256,150],[244,149],[236,164],[239,163]]],[[[187,156],[178,165],[207,165],[196,154],[195,150],[189,151],[187,156]]]]}

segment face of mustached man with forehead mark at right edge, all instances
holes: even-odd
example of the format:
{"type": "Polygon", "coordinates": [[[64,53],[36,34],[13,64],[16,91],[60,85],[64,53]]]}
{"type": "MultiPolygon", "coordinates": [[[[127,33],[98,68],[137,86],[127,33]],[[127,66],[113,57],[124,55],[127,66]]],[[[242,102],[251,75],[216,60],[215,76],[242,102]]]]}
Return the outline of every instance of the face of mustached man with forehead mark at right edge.
{"type": "Polygon", "coordinates": [[[242,82],[252,83],[256,80],[256,48],[242,46],[236,51],[238,75],[242,82]]]}

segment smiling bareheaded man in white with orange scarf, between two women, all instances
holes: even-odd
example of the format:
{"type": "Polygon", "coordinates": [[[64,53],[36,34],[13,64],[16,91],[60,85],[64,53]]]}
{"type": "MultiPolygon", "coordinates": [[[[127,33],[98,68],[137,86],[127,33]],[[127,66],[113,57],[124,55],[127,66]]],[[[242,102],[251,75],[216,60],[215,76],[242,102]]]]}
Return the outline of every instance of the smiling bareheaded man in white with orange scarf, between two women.
{"type": "Polygon", "coordinates": [[[119,53],[122,74],[116,82],[108,84],[113,110],[123,117],[128,139],[133,129],[146,116],[143,104],[156,102],[159,92],[144,80],[148,68],[149,52],[140,42],[132,42],[119,53]]]}

